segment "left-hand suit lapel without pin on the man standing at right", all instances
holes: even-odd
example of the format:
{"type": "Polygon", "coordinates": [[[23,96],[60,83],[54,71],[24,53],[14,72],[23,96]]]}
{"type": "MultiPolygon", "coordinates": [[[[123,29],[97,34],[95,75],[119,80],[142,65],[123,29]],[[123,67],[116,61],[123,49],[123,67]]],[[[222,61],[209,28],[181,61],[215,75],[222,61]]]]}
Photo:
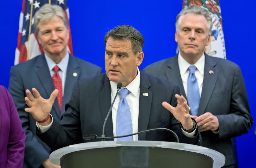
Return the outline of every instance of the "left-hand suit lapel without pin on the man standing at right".
{"type": "Polygon", "coordinates": [[[166,70],[164,71],[166,72],[167,79],[170,82],[177,84],[180,87],[180,94],[183,95],[185,99],[187,99],[186,93],[183,87],[181,75],[180,75],[180,68],[178,64],[178,54],[175,55],[174,57],[171,57],[168,60],[166,70]]]}

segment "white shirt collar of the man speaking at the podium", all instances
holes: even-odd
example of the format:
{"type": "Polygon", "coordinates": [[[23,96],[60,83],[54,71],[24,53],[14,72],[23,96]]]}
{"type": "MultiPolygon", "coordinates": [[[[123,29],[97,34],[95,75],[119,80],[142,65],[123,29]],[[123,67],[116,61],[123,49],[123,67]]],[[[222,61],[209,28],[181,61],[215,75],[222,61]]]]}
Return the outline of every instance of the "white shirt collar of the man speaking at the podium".
{"type": "MultiPolygon", "coordinates": [[[[127,88],[135,97],[137,97],[139,88],[140,88],[140,70],[137,67],[137,76],[132,80],[126,87],[122,88],[127,88]]],[[[117,83],[110,81],[110,86],[111,86],[111,94],[115,94],[117,91],[117,83]]]]}

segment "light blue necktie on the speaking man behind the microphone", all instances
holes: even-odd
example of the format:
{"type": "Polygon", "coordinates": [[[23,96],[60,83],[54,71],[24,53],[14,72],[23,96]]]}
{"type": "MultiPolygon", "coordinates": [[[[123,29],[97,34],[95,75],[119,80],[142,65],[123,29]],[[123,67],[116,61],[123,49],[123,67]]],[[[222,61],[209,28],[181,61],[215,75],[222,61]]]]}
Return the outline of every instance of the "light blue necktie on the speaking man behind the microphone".
{"type": "MultiPolygon", "coordinates": [[[[131,125],[131,112],[130,107],[125,100],[126,95],[129,90],[123,88],[119,91],[120,93],[120,102],[117,108],[116,115],[116,135],[127,135],[132,134],[132,125],[131,125]]],[[[132,136],[117,138],[117,141],[132,141],[132,136]]]]}

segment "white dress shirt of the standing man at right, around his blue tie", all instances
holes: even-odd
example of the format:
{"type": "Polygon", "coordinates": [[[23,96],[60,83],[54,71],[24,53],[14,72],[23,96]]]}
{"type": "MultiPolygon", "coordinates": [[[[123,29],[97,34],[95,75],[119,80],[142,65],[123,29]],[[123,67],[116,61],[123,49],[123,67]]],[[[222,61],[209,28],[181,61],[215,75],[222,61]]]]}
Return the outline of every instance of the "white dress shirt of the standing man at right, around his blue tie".
{"type": "MultiPolygon", "coordinates": [[[[201,93],[202,93],[202,88],[203,88],[203,80],[204,80],[204,63],[205,63],[205,56],[204,54],[201,56],[201,58],[194,64],[196,66],[195,70],[195,77],[198,81],[198,88],[199,88],[199,93],[200,93],[200,98],[201,98],[201,93]]],[[[183,83],[183,87],[185,90],[186,95],[188,95],[188,76],[189,76],[189,64],[186,62],[186,60],[183,59],[183,57],[178,55],[178,64],[180,68],[180,76],[181,80],[183,83]]]]}

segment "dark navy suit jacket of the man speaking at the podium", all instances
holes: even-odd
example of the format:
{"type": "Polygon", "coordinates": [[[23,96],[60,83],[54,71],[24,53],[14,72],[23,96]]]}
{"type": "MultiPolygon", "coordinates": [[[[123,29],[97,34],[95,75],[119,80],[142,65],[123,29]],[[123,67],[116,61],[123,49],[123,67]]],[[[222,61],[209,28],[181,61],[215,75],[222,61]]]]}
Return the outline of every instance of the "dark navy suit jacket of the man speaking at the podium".
{"type": "MultiPolygon", "coordinates": [[[[180,122],[162,106],[167,101],[177,105],[174,97],[180,93],[177,85],[157,77],[140,73],[140,99],[138,131],[153,128],[169,128],[178,134],[180,142],[200,144],[201,135],[196,130],[193,138],[186,137],[180,128],[180,122]],[[148,93],[143,96],[142,93],[148,93]]],[[[71,144],[99,141],[83,140],[85,134],[102,134],[105,117],[111,105],[110,81],[106,74],[78,81],[72,91],[70,102],[66,104],[66,112],[62,115],[60,124],[53,119],[53,125],[38,137],[48,144],[52,150],[71,144]]],[[[113,136],[113,121],[110,113],[106,122],[105,135],[113,136]]],[[[139,140],[175,141],[169,132],[156,131],[138,135],[139,140]]],[[[113,139],[108,139],[113,140],[113,139]]]]}

